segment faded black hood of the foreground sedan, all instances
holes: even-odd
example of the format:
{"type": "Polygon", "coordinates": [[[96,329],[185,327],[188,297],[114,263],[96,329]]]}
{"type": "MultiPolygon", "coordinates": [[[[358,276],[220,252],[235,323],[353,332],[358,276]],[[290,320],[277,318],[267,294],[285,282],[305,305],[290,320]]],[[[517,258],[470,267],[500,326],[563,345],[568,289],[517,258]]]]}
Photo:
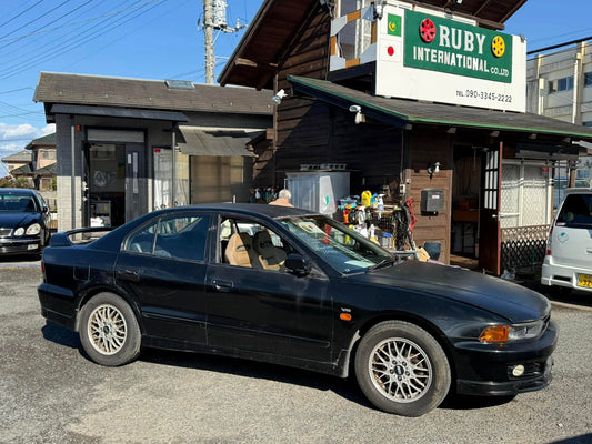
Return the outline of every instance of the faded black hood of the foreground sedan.
{"type": "Polygon", "coordinates": [[[535,321],[551,312],[551,303],[542,294],[458,266],[407,261],[359,278],[369,284],[407,289],[463,302],[512,323],[535,321]]]}

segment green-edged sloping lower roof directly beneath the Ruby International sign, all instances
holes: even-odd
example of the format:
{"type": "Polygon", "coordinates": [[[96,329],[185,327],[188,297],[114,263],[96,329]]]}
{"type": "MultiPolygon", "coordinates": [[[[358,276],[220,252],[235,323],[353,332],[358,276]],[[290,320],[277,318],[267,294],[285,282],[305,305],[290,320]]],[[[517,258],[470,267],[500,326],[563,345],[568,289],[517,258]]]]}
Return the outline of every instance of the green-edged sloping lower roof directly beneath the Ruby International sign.
{"type": "Polygon", "coordinates": [[[297,75],[288,75],[288,81],[297,92],[314,97],[343,109],[359,105],[364,115],[408,130],[413,124],[422,123],[490,131],[552,134],[592,142],[592,128],[575,125],[544,115],[425,103],[403,99],[387,99],[327,80],[297,75]]]}

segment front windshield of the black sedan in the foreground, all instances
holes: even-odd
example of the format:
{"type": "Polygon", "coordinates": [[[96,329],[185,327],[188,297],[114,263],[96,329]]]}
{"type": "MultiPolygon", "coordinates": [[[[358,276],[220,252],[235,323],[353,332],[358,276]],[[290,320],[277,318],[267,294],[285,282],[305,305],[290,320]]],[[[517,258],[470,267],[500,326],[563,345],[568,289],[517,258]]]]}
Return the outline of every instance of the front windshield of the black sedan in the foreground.
{"type": "Polygon", "coordinates": [[[281,223],[340,273],[364,272],[394,262],[389,252],[332,219],[285,218],[281,223]]]}

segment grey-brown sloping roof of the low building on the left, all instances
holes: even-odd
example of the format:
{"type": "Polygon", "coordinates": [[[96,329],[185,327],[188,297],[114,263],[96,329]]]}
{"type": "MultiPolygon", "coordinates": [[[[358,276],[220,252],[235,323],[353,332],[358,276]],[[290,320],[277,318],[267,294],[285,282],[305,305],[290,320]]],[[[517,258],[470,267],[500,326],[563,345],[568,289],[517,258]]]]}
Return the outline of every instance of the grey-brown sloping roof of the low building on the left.
{"type": "Polygon", "coordinates": [[[164,80],[41,72],[36,102],[271,115],[270,91],[194,84],[170,89],[164,80]]]}

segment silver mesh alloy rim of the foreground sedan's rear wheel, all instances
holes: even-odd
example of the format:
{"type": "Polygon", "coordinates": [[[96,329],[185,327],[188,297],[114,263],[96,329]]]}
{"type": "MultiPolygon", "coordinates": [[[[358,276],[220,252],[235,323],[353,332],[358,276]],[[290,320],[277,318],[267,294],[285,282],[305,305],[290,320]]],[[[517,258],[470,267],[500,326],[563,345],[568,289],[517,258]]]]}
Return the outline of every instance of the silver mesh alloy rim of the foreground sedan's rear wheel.
{"type": "Polygon", "coordinates": [[[112,355],[126,343],[128,326],[123,314],[113,305],[99,305],[88,322],[88,336],[92,347],[101,354],[112,355]]]}

